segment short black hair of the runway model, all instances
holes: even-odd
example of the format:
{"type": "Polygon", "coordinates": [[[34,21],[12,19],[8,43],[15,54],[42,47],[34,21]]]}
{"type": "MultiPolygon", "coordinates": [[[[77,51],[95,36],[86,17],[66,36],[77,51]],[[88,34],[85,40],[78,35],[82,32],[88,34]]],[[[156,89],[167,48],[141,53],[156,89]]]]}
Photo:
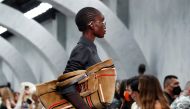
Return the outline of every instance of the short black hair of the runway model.
{"type": "Polygon", "coordinates": [[[75,23],[79,31],[83,32],[87,29],[88,24],[95,20],[97,15],[101,15],[101,12],[93,7],[82,8],[75,17],[75,23]]]}

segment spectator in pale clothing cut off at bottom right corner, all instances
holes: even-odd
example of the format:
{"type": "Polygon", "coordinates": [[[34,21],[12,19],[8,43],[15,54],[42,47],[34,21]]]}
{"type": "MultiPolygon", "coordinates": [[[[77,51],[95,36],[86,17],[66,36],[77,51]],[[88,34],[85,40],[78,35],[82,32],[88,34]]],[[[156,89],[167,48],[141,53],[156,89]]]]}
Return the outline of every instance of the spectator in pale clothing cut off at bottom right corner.
{"type": "Polygon", "coordinates": [[[190,81],[186,83],[181,95],[171,104],[171,109],[190,109],[190,81]]]}

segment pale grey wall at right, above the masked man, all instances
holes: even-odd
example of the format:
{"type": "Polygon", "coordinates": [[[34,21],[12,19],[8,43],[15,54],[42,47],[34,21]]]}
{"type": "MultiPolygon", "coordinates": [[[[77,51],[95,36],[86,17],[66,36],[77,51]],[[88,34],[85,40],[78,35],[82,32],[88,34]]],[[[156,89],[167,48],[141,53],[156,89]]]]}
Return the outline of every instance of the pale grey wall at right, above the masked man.
{"type": "Polygon", "coordinates": [[[161,83],[168,74],[190,80],[190,1],[130,0],[130,28],[151,71],[161,83]]]}

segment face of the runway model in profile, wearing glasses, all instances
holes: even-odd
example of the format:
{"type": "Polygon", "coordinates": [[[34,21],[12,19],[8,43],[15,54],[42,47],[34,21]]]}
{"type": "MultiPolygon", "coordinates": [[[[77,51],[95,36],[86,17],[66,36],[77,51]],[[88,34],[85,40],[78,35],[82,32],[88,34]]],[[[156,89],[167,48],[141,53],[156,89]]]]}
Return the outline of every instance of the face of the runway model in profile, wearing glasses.
{"type": "Polygon", "coordinates": [[[104,16],[97,15],[93,21],[93,32],[94,35],[98,38],[103,38],[106,33],[106,23],[104,21],[104,16]]]}

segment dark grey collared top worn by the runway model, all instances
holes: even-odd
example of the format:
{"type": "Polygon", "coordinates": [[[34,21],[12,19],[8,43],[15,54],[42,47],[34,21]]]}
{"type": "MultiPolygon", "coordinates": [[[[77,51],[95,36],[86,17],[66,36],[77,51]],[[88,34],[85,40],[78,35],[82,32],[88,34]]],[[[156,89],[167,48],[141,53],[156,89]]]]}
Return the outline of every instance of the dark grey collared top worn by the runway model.
{"type": "MultiPolygon", "coordinates": [[[[96,45],[82,36],[72,50],[70,58],[67,62],[63,73],[72,72],[75,70],[85,70],[88,67],[101,62],[98,56],[96,45]]],[[[74,86],[63,89],[60,93],[65,94],[71,91],[76,91],[74,86]]]]}

